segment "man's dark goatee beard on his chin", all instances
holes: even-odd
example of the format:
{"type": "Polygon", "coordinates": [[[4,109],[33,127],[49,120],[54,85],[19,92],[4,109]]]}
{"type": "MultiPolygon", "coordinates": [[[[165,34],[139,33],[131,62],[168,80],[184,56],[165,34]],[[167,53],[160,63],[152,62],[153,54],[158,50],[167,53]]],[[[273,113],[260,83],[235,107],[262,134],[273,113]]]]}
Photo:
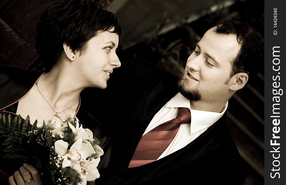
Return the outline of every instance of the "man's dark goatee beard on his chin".
{"type": "Polygon", "coordinates": [[[178,90],[186,98],[192,101],[201,100],[201,93],[196,88],[191,88],[188,84],[188,80],[185,77],[185,74],[182,74],[178,81],[178,90]]]}

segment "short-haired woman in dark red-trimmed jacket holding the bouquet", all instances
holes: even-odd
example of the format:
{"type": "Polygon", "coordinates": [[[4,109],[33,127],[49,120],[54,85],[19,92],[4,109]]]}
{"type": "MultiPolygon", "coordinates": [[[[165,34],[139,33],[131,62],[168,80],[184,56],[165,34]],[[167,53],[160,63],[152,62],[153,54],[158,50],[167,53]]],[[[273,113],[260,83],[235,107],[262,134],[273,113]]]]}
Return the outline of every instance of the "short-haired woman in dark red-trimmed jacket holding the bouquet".
{"type": "MultiPolygon", "coordinates": [[[[117,17],[102,10],[97,2],[52,2],[36,25],[35,48],[46,71],[1,66],[0,111],[23,118],[29,115],[31,123],[37,120],[39,125],[56,113],[77,116],[83,124],[92,125],[100,146],[109,151],[108,134],[88,110],[80,107],[80,92],[86,87],[105,88],[113,69],[120,67],[115,53],[120,34],[117,17]]],[[[108,155],[105,152],[102,156],[101,167],[108,164],[108,155]]],[[[9,183],[41,184],[36,174],[34,167],[24,165],[9,178],[9,183]]]]}

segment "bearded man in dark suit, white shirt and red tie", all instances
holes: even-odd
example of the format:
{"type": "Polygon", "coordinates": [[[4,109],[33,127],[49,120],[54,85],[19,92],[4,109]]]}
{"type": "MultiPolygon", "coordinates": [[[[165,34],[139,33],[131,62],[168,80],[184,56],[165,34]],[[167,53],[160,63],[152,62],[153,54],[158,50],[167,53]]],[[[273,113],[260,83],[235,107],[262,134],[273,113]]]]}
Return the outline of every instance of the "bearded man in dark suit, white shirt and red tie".
{"type": "Polygon", "coordinates": [[[113,147],[111,165],[96,183],[243,184],[246,171],[225,115],[229,98],[257,75],[263,52],[253,28],[226,20],[197,43],[179,81],[144,60],[119,57],[122,68],[108,88],[85,92],[100,97],[84,106],[95,107],[113,147]],[[143,138],[178,117],[181,107],[191,121],[179,125],[158,158],[148,160],[160,146],[144,153],[154,140],[143,146],[143,138]]]}

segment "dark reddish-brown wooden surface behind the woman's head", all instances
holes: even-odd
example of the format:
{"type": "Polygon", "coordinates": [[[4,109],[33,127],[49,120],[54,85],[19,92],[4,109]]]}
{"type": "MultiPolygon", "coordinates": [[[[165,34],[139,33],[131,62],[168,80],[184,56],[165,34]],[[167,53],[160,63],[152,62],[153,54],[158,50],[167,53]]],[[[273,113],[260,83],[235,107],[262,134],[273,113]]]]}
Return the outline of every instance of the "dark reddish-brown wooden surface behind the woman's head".
{"type": "MultiPolygon", "coordinates": [[[[35,27],[43,7],[53,0],[0,1],[0,64],[41,69],[34,49],[35,27]]],[[[105,7],[113,0],[101,0],[105,7]]]]}

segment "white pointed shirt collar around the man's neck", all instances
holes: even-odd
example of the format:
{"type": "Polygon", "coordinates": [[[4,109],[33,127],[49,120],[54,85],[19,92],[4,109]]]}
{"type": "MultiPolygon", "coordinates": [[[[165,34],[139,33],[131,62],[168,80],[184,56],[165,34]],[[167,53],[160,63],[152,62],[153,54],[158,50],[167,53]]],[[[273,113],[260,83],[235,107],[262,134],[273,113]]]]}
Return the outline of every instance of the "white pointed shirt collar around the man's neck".
{"type": "Polygon", "coordinates": [[[225,104],[224,109],[221,113],[216,112],[208,112],[202,110],[193,110],[190,108],[190,100],[185,98],[180,92],[178,92],[165,106],[167,108],[175,108],[175,107],[186,107],[191,111],[191,134],[199,130],[203,130],[208,128],[212,124],[214,124],[217,120],[222,117],[224,112],[228,107],[228,102],[225,104]]]}

